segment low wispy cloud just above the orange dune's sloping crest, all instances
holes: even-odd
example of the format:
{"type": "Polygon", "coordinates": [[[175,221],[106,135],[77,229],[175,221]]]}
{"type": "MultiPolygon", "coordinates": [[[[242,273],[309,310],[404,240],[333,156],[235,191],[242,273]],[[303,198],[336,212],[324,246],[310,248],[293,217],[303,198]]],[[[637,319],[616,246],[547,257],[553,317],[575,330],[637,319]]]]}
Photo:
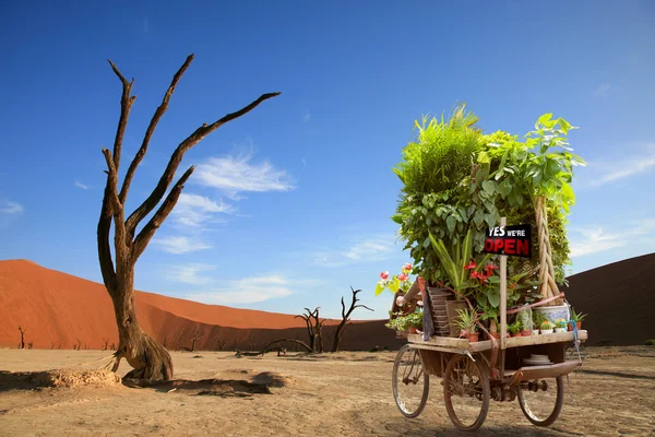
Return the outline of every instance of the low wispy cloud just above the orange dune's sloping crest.
{"type": "Polygon", "coordinates": [[[190,293],[184,297],[204,304],[236,305],[254,304],[294,294],[297,286],[318,284],[312,280],[290,280],[281,274],[243,277],[233,280],[226,286],[211,288],[207,292],[190,293]]]}

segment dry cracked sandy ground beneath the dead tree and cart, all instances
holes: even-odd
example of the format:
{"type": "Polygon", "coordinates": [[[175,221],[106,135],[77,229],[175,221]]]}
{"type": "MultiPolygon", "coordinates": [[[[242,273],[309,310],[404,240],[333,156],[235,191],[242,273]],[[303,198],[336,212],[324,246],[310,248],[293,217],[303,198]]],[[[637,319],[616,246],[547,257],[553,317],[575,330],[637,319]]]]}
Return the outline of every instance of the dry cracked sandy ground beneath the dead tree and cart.
{"type": "MultiPolygon", "coordinates": [[[[564,410],[552,427],[532,426],[516,402],[492,402],[477,435],[655,435],[655,347],[590,347],[584,352],[583,371],[571,377],[564,410]]],[[[79,365],[106,355],[100,351],[1,350],[0,370],[88,369],[97,364],[79,365]]],[[[303,358],[277,357],[274,353],[263,358],[237,358],[234,353],[221,352],[172,354],[177,378],[242,379],[260,373],[286,377],[286,387],[272,388],[270,394],[233,387],[214,393],[218,395],[198,395],[198,390],[184,387],[167,392],[107,381],[25,390],[8,388],[5,379],[0,389],[0,435],[462,435],[453,430],[448,418],[437,378],[430,381],[428,406],[418,418],[405,420],[400,414],[391,393],[394,356],[393,352],[303,358]]],[[[121,376],[128,369],[123,362],[121,376]]]]}

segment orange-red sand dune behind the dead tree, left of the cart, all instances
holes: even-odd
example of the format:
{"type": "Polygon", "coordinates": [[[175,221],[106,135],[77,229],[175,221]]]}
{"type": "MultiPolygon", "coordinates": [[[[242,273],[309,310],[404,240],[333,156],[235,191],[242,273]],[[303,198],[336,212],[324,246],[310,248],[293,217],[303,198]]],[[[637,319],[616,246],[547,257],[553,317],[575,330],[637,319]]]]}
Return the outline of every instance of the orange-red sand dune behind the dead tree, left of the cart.
{"type": "MultiPolygon", "coordinates": [[[[25,260],[0,261],[0,346],[16,347],[19,326],[25,344],[36,349],[99,349],[108,339],[118,342],[111,300],[104,285],[43,268],[25,260]]],[[[189,347],[194,331],[202,333],[199,349],[259,349],[270,341],[291,338],[307,341],[305,321],[293,315],[204,305],[136,292],[136,314],[143,329],[169,349],[189,347]]],[[[331,347],[334,324],[324,328],[331,347]],[[331,327],[332,326],[332,327],[331,327]]],[[[384,320],[359,321],[348,328],[344,349],[395,347],[398,341],[384,320]]]]}

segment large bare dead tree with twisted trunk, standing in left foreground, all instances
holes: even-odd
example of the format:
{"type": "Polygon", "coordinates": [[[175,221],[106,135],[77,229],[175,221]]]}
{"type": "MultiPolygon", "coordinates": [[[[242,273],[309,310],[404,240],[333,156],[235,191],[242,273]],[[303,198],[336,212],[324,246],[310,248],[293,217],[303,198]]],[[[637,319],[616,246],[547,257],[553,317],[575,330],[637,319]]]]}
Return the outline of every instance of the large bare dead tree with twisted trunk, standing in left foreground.
{"type": "Polygon", "coordinates": [[[155,235],[155,232],[162,226],[166,217],[175,208],[184,184],[195,168],[194,166],[191,166],[187,169],[171,187],[172,179],[182,162],[184,153],[223,125],[248,114],[262,102],[279,94],[263,94],[258,99],[236,113],[228,114],[211,125],[204,123],[195,129],[195,131],[182,140],[172,152],[164,174],[150,196],[131,214],[127,215],[126,205],[128,192],[136,167],[139,167],[141,161],[145,156],[150,140],[157,123],[168,109],[168,102],[175,92],[179,80],[192,60],[193,55],[190,55],[182,67],[172,76],[172,81],[164,95],[162,104],[157,107],[150,121],[141,147],[130,163],[120,187],[118,179],[123,135],[128,125],[130,109],[132,108],[136,96],[131,95],[134,80],[128,81],[114,62],[109,61],[114,73],[122,84],[122,93],[120,98],[120,117],[118,120],[116,138],[114,140],[114,151],[111,152],[108,149],[103,149],[103,154],[105,155],[107,164],[107,170],[105,172],[107,174],[107,182],[105,185],[103,205],[98,220],[97,241],[103,282],[114,303],[114,312],[118,324],[118,350],[114,355],[114,365],[111,367],[114,371],[117,371],[120,361],[126,358],[130,366],[133,367],[133,370],[126,375],[127,378],[145,378],[151,380],[169,380],[172,378],[172,362],[170,359],[170,354],[162,346],[162,344],[143,331],[136,319],[136,310],[134,307],[134,265],[155,235]],[[159,206],[157,208],[158,204],[159,206]],[[155,208],[157,209],[155,210],[155,208]],[[151,213],[153,214],[150,221],[139,231],[140,223],[151,213]],[[115,227],[114,245],[111,245],[109,240],[112,224],[115,227]],[[114,248],[111,246],[114,246],[114,248]]]}

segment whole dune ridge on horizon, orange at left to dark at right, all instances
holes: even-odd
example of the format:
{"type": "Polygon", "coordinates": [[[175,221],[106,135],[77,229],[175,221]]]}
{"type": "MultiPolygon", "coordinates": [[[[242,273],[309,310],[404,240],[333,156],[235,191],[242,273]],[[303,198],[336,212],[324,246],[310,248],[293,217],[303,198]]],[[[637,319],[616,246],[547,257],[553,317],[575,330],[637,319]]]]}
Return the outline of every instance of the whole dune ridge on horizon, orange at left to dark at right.
{"type": "MultiPolygon", "coordinates": [[[[655,253],[631,258],[569,277],[564,288],[573,307],[588,316],[587,344],[643,344],[655,339],[655,253]]],[[[346,297],[347,298],[347,297],[346,297]]],[[[378,311],[386,316],[381,298],[378,311]]],[[[301,303],[299,304],[301,305],[301,303]]],[[[259,350],[282,338],[307,342],[305,321],[283,315],[136,292],[143,329],[169,349],[259,350]]],[[[324,349],[332,347],[334,324],[325,323],[324,349]]],[[[384,328],[385,320],[357,321],[342,340],[344,350],[397,349],[402,340],[384,328]]],[[[16,347],[25,328],[25,345],[35,349],[100,349],[104,339],[118,343],[116,320],[104,285],[43,268],[32,261],[0,261],[0,346],[16,347]]]]}

